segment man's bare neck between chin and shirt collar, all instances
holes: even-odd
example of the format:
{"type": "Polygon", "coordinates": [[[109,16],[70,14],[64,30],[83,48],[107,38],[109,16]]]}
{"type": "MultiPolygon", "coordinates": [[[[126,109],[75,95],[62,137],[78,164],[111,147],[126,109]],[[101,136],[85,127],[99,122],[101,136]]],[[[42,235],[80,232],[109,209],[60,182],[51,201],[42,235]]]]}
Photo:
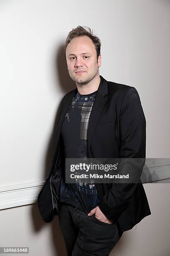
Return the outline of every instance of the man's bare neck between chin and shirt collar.
{"type": "Polygon", "coordinates": [[[97,77],[94,77],[88,84],[83,84],[83,85],[77,85],[77,90],[80,94],[82,95],[87,95],[92,92],[97,91],[98,87],[100,84],[100,76],[98,75],[97,77]]]}

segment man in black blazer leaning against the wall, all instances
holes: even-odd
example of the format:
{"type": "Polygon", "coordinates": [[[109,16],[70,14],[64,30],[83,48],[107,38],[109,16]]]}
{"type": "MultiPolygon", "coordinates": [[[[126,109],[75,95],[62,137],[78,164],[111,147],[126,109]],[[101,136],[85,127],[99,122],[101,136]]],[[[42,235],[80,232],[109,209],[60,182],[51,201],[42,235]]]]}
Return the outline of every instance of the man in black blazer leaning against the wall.
{"type": "Polygon", "coordinates": [[[52,169],[38,198],[45,222],[58,215],[68,256],[109,255],[124,231],[151,214],[141,182],[65,182],[66,158],[145,159],[140,97],[134,87],[100,76],[100,46],[90,28],[67,36],[67,69],[77,88],[62,99],[52,169]]]}

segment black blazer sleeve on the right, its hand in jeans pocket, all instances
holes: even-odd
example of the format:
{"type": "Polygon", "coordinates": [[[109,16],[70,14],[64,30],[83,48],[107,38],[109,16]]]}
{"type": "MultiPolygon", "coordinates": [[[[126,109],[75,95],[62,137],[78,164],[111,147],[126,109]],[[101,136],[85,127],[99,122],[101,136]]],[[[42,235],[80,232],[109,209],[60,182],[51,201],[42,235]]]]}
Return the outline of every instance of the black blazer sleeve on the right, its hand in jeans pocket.
{"type": "MultiPolygon", "coordinates": [[[[138,167],[134,169],[135,172],[138,172],[140,179],[145,164],[146,120],[140,97],[135,87],[129,87],[122,97],[119,124],[119,158],[142,159],[138,167]]],[[[134,160],[138,161],[138,159],[134,160]]],[[[138,183],[112,183],[107,194],[99,202],[99,207],[103,214],[115,222],[130,202],[137,185],[138,183]]]]}

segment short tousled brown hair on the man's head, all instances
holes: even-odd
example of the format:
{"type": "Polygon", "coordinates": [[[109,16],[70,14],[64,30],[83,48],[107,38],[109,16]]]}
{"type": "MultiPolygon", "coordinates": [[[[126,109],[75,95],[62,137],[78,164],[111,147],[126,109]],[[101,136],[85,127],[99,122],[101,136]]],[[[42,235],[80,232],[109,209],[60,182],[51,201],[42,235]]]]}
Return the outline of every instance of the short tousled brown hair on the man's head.
{"type": "Polygon", "coordinates": [[[96,52],[97,52],[97,59],[98,59],[98,56],[100,55],[101,41],[92,32],[93,31],[91,31],[91,29],[89,27],[85,27],[85,26],[83,26],[83,27],[77,26],[77,28],[73,28],[72,31],[70,31],[68,33],[68,36],[66,38],[65,47],[64,47],[65,51],[66,51],[67,45],[70,43],[72,38],[79,37],[79,36],[88,36],[88,37],[90,37],[93,44],[95,45],[96,52]]]}

